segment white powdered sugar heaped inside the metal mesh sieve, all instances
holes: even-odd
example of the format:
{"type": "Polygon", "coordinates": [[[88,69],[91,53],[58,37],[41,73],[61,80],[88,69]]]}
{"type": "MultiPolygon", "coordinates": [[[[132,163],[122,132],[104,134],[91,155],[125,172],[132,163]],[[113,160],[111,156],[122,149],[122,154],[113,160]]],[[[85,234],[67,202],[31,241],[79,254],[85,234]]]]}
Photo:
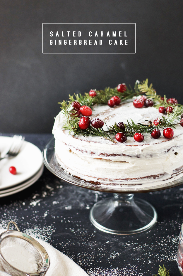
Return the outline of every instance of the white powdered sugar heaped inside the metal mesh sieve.
{"type": "Polygon", "coordinates": [[[24,272],[37,272],[35,256],[16,242],[8,242],[1,248],[4,259],[13,267],[24,272]]]}

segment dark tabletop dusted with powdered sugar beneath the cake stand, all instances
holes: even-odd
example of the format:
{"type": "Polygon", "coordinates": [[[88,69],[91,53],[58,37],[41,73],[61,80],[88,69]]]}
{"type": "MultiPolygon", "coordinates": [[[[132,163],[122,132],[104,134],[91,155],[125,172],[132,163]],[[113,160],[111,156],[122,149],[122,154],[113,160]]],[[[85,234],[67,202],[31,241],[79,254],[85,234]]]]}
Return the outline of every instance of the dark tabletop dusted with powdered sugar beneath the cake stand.
{"type": "MultiPolygon", "coordinates": [[[[41,150],[51,137],[25,135],[41,150]]],[[[16,221],[21,231],[45,239],[90,276],[150,276],[163,264],[170,276],[179,276],[176,254],[183,222],[183,186],[137,194],[156,208],[158,222],[146,232],[128,236],[101,232],[90,223],[90,208],[109,196],[66,183],[45,168],[35,184],[1,198],[0,226],[16,221]]]]}

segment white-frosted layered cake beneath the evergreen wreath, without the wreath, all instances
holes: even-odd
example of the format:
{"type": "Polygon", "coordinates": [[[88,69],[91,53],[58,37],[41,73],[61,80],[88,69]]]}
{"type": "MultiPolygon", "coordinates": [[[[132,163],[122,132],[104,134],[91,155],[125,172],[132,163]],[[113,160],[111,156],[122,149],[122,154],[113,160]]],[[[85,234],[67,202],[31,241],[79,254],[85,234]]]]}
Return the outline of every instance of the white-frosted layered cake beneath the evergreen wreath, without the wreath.
{"type": "MultiPolygon", "coordinates": [[[[128,125],[129,121],[137,125],[153,125],[157,118],[162,122],[173,116],[173,112],[172,115],[169,112],[166,115],[166,112],[160,113],[158,108],[150,105],[136,108],[136,98],[141,99],[141,96],[113,107],[95,104],[88,117],[91,121],[98,118],[105,122],[102,129],[107,132],[108,127],[119,122],[124,125],[128,125]]],[[[78,120],[80,118],[81,115],[78,120]]],[[[94,185],[128,185],[137,189],[141,185],[158,185],[160,181],[166,185],[183,176],[183,127],[180,124],[171,128],[174,132],[172,137],[165,138],[164,127],[161,127],[158,139],[154,139],[157,137],[153,138],[150,132],[144,132],[142,142],[128,135],[126,141],[119,142],[115,135],[113,141],[95,135],[73,135],[73,132],[64,128],[66,120],[63,110],[55,118],[55,155],[59,165],[73,176],[94,185]]],[[[125,130],[119,133],[125,134],[125,130]]]]}

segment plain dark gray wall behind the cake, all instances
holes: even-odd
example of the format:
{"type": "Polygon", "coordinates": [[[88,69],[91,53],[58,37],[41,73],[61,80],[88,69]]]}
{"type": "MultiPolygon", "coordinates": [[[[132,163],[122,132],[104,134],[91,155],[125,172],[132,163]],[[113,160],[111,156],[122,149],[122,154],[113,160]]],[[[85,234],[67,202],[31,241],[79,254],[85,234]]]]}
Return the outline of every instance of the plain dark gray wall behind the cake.
{"type": "Polygon", "coordinates": [[[183,104],[182,0],[1,0],[0,132],[51,132],[68,94],[149,78],[183,104]],[[43,22],[135,22],[136,54],[42,54],[43,22]]]}

